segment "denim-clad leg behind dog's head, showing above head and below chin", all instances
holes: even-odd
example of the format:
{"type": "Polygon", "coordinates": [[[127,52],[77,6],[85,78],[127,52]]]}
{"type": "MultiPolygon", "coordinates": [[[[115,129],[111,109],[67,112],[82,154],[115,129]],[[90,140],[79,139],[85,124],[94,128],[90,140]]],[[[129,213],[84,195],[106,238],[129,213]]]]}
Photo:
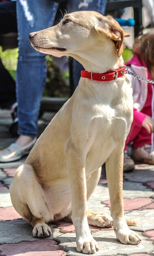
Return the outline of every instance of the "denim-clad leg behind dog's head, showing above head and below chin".
{"type": "MultiPolygon", "coordinates": [[[[68,0],[68,11],[98,11],[104,15],[106,8],[107,0],[68,0]]],[[[78,82],[81,76],[81,70],[84,70],[84,67],[78,62],[75,61],[73,68],[73,77],[74,77],[74,89],[78,86],[78,82]]]]}

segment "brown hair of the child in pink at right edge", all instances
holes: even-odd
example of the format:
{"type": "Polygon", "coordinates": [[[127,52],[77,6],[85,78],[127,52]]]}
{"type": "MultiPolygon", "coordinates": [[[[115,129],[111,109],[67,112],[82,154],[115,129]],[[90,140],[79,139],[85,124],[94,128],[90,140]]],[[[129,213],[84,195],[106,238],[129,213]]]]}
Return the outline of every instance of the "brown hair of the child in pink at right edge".
{"type": "Polygon", "coordinates": [[[148,69],[154,66],[154,29],[135,39],[133,52],[145,61],[148,69]]]}

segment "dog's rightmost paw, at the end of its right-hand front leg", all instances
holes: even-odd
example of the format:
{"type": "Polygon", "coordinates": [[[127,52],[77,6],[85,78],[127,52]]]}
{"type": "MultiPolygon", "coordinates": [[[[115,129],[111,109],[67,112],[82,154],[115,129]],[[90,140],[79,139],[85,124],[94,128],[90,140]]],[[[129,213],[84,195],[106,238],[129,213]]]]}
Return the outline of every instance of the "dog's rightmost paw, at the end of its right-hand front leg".
{"type": "Polygon", "coordinates": [[[127,231],[115,230],[117,240],[123,244],[138,245],[141,242],[139,236],[129,228],[127,231]]]}

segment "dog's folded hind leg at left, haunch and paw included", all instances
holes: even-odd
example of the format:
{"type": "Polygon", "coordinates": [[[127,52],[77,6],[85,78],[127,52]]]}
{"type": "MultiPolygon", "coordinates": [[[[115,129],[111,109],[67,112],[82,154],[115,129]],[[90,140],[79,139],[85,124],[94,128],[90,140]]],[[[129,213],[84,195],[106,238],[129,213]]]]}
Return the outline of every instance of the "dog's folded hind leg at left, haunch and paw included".
{"type": "Polygon", "coordinates": [[[50,213],[32,166],[23,164],[17,169],[10,186],[10,195],[15,210],[33,226],[33,236],[50,236],[51,228],[45,223],[50,213]]]}

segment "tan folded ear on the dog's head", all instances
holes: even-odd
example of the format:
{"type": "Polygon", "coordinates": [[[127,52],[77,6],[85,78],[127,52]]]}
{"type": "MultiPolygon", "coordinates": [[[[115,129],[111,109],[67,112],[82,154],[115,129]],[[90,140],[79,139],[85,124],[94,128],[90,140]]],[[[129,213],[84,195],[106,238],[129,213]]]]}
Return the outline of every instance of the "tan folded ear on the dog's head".
{"type": "Polygon", "coordinates": [[[129,37],[130,34],[124,32],[119,23],[111,16],[106,16],[99,19],[95,29],[100,33],[105,34],[108,38],[114,40],[115,47],[117,48],[117,56],[119,58],[123,53],[122,44],[124,37],[129,37]]]}

